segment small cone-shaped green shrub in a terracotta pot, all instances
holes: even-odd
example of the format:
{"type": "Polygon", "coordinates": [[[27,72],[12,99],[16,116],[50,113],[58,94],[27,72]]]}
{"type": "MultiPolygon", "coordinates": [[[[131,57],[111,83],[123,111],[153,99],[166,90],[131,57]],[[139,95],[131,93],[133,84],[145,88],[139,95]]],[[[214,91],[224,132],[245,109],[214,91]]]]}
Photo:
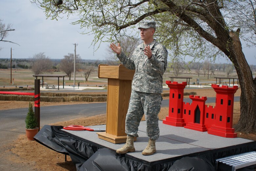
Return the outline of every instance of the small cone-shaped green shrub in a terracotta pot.
{"type": "Polygon", "coordinates": [[[28,137],[28,140],[34,140],[33,137],[35,136],[35,134],[37,134],[39,128],[36,127],[37,121],[36,121],[35,113],[33,111],[33,107],[31,103],[29,103],[29,112],[26,116],[25,123],[26,123],[26,135],[28,137]]]}

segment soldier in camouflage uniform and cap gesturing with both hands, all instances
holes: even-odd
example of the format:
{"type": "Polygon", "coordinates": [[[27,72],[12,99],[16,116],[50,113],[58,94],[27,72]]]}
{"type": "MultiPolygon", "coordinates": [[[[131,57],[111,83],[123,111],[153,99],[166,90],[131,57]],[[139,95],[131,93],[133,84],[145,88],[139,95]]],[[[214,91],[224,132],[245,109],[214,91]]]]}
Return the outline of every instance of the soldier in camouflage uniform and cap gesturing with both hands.
{"type": "Polygon", "coordinates": [[[159,137],[158,114],[162,101],[162,76],[167,66],[167,50],[153,39],[156,30],[155,21],[141,22],[139,29],[143,43],[136,47],[131,58],[125,56],[119,43],[117,46],[114,43],[110,45],[126,68],[135,69],[125,120],[127,140],[122,148],[117,149],[117,153],[135,151],[134,137],[138,137],[139,123],[145,114],[149,142],[142,154],[151,155],[156,152],[155,142],[159,137]]]}

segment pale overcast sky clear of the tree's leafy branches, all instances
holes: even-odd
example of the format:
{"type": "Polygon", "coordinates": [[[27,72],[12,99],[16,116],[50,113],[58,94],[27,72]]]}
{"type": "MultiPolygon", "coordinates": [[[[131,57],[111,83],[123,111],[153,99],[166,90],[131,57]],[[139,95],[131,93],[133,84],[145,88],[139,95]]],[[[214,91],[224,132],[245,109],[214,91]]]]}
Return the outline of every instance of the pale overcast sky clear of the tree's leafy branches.
{"type": "MultiPolygon", "coordinates": [[[[101,44],[94,52],[91,46],[94,35],[80,34],[79,25],[71,25],[73,19],[46,19],[42,9],[30,0],[1,0],[0,20],[8,25],[12,24],[15,31],[10,31],[5,40],[19,44],[20,46],[7,42],[0,42],[0,58],[10,58],[12,47],[12,58],[32,58],[39,52],[45,52],[52,59],[62,59],[68,53],[74,53],[82,59],[106,59],[106,49],[109,44],[101,44]]],[[[256,65],[256,47],[243,48],[249,65],[256,65]]],[[[216,63],[227,63],[227,60],[217,60],[216,63]]]]}

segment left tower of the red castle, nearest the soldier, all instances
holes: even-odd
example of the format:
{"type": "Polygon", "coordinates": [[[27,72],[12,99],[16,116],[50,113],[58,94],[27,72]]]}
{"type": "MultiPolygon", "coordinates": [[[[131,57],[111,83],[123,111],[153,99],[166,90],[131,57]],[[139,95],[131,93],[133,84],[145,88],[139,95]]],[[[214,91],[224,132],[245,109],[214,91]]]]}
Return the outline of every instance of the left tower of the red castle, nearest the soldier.
{"type": "Polygon", "coordinates": [[[169,95],[169,115],[166,119],[163,119],[163,124],[172,126],[184,126],[186,125],[182,118],[183,113],[183,93],[184,88],[187,85],[186,82],[179,84],[178,82],[166,81],[166,84],[170,88],[169,95]]]}

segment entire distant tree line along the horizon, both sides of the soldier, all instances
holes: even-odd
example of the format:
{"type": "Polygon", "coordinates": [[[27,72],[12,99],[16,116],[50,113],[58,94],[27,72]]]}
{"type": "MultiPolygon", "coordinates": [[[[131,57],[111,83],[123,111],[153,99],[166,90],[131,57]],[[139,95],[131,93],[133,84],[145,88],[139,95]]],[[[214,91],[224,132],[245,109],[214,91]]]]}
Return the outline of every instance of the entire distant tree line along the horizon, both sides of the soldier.
{"type": "MultiPolygon", "coordinates": [[[[134,40],[126,39],[125,42],[133,42],[134,40]]],[[[135,42],[136,43],[136,42],[135,42]]],[[[126,46],[125,43],[122,44],[123,47],[126,46]]],[[[131,57],[133,48],[125,51],[128,56],[131,57]]],[[[97,70],[99,64],[108,65],[119,65],[121,64],[115,54],[112,51],[108,51],[106,60],[82,60],[80,55],[76,55],[76,71],[82,72],[85,81],[88,81],[89,75],[97,70]]],[[[172,73],[174,76],[178,77],[179,74],[188,71],[195,72],[198,77],[203,75],[204,77],[208,74],[209,65],[209,76],[215,75],[215,71],[222,71],[226,73],[226,76],[235,71],[232,64],[219,64],[210,62],[208,59],[203,62],[193,62],[185,63],[179,60],[169,61],[166,72],[172,73]]],[[[10,59],[0,59],[0,69],[11,68],[10,59]]],[[[63,71],[65,72],[69,80],[71,80],[71,75],[74,73],[74,54],[68,53],[63,59],[50,59],[42,52],[34,54],[30,59],[12,59],[12,68],[16,69],[32,69],[34,74],[41,74],[44,72],[54,72],[63,71]]],[[[256,72],[256,66],[250,65],[252,72],[256,72]]]]}

